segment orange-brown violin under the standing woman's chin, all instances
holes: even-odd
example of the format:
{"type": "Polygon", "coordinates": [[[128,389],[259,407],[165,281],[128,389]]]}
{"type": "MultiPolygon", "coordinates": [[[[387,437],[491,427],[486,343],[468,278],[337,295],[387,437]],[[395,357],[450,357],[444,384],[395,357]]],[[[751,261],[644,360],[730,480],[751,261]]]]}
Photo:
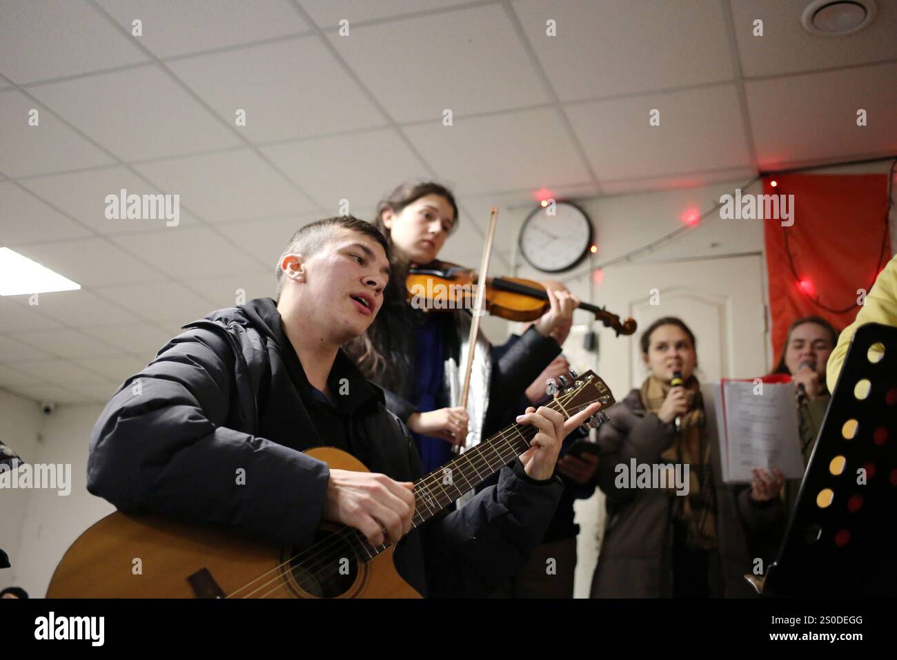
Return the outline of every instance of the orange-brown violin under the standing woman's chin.
{"type": "MultiPolygon", "coordinates": [[[[448,261],[413,266],[405,278],[405,291],[412,306],[425,310],[474,309],[476,271],[448,261]]],[[[486,311],[509,321],[536,321],[551,306],[545,286],[522,277],[487,277],[486,311]]],[[[604,307],[579,303],[578,309],[595,314],[597,321],[617,334],[631,335],[636,322],[620,317],[604,307]]]]}

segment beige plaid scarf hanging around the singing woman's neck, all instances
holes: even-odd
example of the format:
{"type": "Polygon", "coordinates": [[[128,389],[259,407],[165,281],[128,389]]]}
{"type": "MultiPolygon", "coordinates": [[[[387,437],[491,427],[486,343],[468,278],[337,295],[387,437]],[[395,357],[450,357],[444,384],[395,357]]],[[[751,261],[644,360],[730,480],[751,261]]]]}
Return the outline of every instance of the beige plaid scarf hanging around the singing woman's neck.
{"type": "MultiPolygon", "coordinates": [[[[706,418],[701,385],[693,375],[684,384],[692,393],[692,409],[681,421],[681,431],[675,442],[660,458],[668,462],[681,462],[689,466],[689,491],[686,496],[673,497],[673,515],[687,530],[685,543],[689,548],[710,550],[717,547],[717,502],[710,464],[710,442],[704,432],[706,418]]],[[[670,391],[669,383],[649,376],[641,383],[641,404],[648,412],[657,414],[670,391]]]]}

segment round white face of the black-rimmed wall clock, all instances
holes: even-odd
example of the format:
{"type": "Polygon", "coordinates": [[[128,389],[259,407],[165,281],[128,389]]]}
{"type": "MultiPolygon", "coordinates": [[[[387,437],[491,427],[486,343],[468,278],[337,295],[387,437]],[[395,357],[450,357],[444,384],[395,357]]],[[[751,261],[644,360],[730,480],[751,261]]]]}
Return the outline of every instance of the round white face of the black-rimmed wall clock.
{"type": "Polygon", "coordinates": [[[520,230],[519,247],[530,266],[546,273],[567,270],[579,263],[592,241],[592,223],[578,207],[567,202],[538,207],[529,214],[520,230]]]}

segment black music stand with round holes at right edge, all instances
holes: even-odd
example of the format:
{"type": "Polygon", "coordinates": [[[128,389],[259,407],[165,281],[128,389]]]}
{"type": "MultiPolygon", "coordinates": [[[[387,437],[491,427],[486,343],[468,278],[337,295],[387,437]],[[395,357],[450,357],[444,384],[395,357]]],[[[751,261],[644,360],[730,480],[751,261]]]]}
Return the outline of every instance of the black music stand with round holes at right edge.
{"type": "Polygon", "coordinates": [[[897,328],[854,335],[762,594],[897,594],[897,328]]]}

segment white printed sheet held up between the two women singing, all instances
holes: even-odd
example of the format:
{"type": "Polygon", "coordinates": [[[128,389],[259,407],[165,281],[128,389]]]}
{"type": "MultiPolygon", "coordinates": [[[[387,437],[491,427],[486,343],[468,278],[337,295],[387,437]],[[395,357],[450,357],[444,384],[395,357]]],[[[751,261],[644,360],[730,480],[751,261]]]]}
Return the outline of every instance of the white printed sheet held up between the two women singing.
{"type": "Polygon", "coordinates": [[[723,380],[715,387],[720,458],[727,483],[753,480],[751,468],[779,468],[785,478],[804,476],[797,431],[797,407],[791,383],[723,380]]]}

